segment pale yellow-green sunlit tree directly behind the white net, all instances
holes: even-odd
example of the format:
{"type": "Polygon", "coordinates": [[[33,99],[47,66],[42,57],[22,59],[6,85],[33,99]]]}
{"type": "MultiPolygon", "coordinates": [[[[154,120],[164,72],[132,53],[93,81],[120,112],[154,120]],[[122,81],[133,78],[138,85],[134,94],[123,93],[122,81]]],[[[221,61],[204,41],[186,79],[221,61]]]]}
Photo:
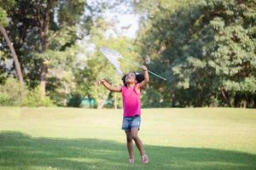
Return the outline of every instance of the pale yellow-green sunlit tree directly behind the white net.
{"type": "MultiPolygon", "coordinates": [[[[120,54],[123,54],[125,58],[137,60],[138,63],[141,63],[141,60],[138,59],[137,50],[134,49],[131,40],[125,37],[110,37],[107,39],[107,37],[104,36],[109,26],[111,26],[111,23],[106,22],[102,18],[98,18],[94,22],[90,31],[90,40],[87,44],[94,44],[95,51],[88,54],[85,66],[81,67],[81,65],[78,65],[73,70],[75,73],[74,82],[77,84],[77,88],[74,89],[73,94],[96,99],[97,108],[102,108],[107,99],[113,100],[114,108],[121,107],[120,95],[110,93],[102,86],[97,85],[101,78],[106,78],[113,86],[120,86],[122,84],[122,76],[116,74],[113,65],[99,52],[99,48],[108,47],[116,49],[120,54]],[[134,50],[131,51],[130,49],[134,50]]],[[[136,67],[122,62],[121,67],[122,71],[125,72],[131,71],[132,69],[137,70],[136,67]]]]}

